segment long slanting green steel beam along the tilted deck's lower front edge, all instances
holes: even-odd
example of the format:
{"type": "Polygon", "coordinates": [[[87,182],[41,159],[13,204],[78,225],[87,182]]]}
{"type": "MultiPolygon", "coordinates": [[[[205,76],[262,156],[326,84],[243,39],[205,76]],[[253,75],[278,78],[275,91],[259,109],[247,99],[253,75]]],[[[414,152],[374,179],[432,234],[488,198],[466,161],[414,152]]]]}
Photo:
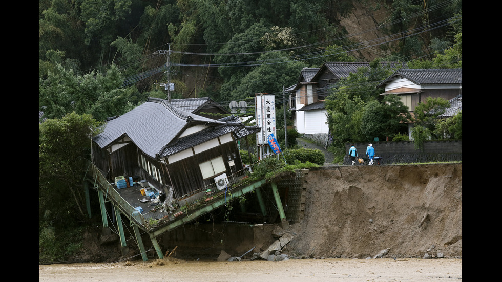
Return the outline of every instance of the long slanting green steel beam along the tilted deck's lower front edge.
{"type": "MultiPolygon", "coordinates": [[[[235,198],[235,197],[240,197],[240,196],[243,196],[244,194],[247,194],[253,190],[255,190],[256,188],[259,188],[261,186],[263,186],[264,184],[266,183],[266,180],[263,179],[263,180],[260,180],[258,182],[255,182],[249,186],[246,186],[244,188],[242,188],[241,190],[238,190],[238,191],[235,191],[235,192],[232,192],[232,198],[235,198]]],[[[171,231],[173,229],[175,229],[176,227],[180,226],[180,225],[183,225],[185,223],[189,223],[191,221],[193,221],[194,219],[198,218],[199,216],[201,215],[204,215],[210,211],[213,211],[219,207],[222,207],[225,205],[225,197],[222,197],[220,200],[217,200],[213,203],[211,203],[211,205],[207,205],[207,206],[204,206],[202,207],[201,209],[198,209],[194,212],[192,212],[191,214],[189,215],[186,215],[186,216],[183,216],[182,218],[180,218],[179,220],[177,221],[174,221],[173,223],[171,224],[168,224],[168,225],[165,225],[155,231],[152,232],[152,235],[157,237],[165,232],[168,232],[168,231],[171,231]]],[[[282,205],[281,205],[281,208],[282,208],[282,205]]]]}

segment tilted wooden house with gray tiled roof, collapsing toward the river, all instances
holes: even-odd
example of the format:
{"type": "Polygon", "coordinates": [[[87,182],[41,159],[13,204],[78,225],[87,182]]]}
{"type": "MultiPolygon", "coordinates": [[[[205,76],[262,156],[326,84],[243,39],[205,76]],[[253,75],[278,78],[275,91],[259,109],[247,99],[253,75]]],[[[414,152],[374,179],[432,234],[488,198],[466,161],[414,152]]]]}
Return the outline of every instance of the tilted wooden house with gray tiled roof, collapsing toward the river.
{"type": "Polygon", "coordinates": [[[227,178],[243,169],[237,140],[259,130],[233,115],[214,120],[149,98],[107,120],[93,138],[93,163],[110,182],[135,177],[180,199],[207,185],[224,188],[227,178]]]}

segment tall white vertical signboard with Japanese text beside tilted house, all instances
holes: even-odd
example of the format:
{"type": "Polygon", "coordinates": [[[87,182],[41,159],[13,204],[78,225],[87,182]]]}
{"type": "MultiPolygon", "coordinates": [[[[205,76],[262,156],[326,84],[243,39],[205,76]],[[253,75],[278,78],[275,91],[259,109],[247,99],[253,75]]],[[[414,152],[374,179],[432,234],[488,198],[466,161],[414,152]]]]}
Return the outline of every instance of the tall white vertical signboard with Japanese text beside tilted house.
{"type": "Polygon", "coordinates": [[[255,96],[256,119],[261,126],[258,133],[258,144],[268,144],[268,135],[276,135],[276,100],[274,95],[259,93],[255,96]]]}

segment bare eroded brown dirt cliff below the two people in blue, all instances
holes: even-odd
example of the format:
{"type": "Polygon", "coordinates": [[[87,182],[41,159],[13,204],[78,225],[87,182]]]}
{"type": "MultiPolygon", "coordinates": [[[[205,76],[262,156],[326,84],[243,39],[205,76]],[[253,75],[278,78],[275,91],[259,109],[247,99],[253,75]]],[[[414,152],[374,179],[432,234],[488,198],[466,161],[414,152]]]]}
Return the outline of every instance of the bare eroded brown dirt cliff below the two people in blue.
{"type": "Polygon", "coordinates": [[[290,255],[462,257],[462,163],[310,170],[290,255]]]}

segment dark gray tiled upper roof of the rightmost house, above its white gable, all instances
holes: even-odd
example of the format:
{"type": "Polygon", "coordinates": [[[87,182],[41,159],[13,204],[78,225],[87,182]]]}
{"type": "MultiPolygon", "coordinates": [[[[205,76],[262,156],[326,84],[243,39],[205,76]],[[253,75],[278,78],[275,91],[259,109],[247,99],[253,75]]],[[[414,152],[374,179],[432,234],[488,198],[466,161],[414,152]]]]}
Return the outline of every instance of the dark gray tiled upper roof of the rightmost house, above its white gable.
{"type": "Polygon", "coordinates": [[[379,86],[403,77],[415,84],[462,84],[462,69],[399,69],[379,86]]]}

